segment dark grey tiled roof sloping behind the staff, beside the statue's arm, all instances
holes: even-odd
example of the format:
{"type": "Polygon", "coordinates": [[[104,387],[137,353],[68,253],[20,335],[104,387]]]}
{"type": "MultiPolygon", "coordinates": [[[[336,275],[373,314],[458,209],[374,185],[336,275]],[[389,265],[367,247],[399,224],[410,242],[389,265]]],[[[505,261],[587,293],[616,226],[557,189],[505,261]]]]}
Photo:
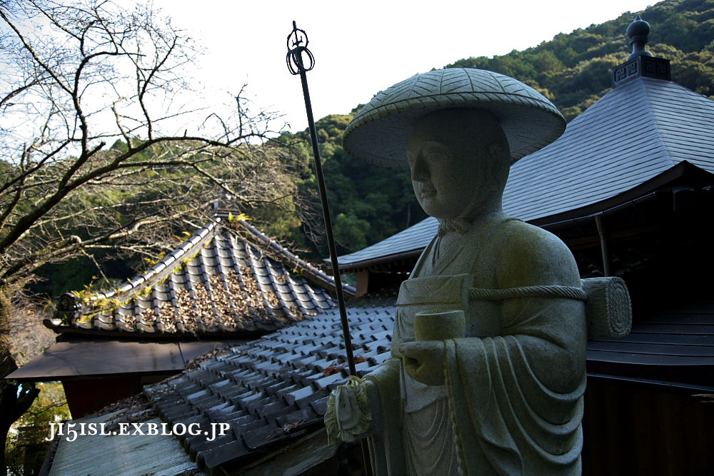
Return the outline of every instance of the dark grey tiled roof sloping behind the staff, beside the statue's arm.
{"type": "MultiPolygon", "coordinates": [[[[389,357],[393,315],[393,299],[350,303],[358,374],[389,357]]],[[[200,467],[245,465],[323,425],[329,391],[347,378],[341,340],[339,313],[328,310],[149,386],[146,395],[166,422],[231,425],[213,442],[183,440],[200,467]]]]}

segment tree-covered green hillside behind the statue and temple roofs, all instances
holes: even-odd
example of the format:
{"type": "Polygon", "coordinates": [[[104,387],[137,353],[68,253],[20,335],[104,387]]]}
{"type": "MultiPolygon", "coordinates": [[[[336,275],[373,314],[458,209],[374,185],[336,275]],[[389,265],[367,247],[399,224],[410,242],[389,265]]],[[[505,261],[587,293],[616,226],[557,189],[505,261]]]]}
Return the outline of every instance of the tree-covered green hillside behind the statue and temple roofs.
{"type": "MultiPolygon", "coordinates": [[[[609,90],[610,70],[631,51],[625,30],[636,13],[651,25],[648,49],[672,61],[673,80],[714,97],[714,0],[663,1],[643,12],[627,12],[603,24],[558,34],[525,51],[458,59],[446,67],[490,69],[513,76],[550,98],[570,120],[609,90]]],[[[407,173],[367,166],[346,155],[341,136],[356,110],[317,122],[339,253],[375,243],[425,217],[413,197],[407,173]]],[[[273,201],[245,203],[243,211],[266,233],[319,260],[327,250],[321,240],[322,218],[308,133],[283,133],[281,139],[286,144],[284,151],[297,158],[291,166],[293,186],[283,184],[283,189],[295,192],[277,202],[273,196],[273,201]]],[[[114,269],[126,273],[126,267],[117,264],[115,261],[114,269]]],[[[83,266],[65,268],[71,270],[68,276],[75,284],[96,273],[91,266],[83,266]],[[78,272],[83,266],[86,272],[80,274],[86,276],[81,277],[78,272]]],[[[134,267],[141,267],[141,262],[134,260],[134,267]]],[[[59,268],[48,270],[48,274],[58,272],[59,268]]]]}

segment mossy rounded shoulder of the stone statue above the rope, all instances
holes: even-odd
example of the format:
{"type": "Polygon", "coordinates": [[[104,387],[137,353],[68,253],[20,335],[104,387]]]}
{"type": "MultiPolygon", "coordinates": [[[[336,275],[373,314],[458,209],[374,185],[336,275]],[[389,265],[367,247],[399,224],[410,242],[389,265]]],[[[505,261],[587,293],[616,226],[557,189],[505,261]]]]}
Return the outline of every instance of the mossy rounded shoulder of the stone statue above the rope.
{"type": "Polygon", "coordinates": [[[523,221],[503,223],[491,240],[499,285],[580,285],[573,253],[560,238],[523,221]]]}

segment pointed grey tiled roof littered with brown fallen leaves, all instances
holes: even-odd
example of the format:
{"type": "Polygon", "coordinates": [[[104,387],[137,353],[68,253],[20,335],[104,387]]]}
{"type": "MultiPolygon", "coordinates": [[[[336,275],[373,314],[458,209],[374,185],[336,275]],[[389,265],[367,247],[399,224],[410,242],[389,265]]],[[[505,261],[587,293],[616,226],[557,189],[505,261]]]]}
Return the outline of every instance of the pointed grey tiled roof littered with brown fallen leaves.
{"type": "Polygon", "coordinates": [[[64,295],[46,325],[106,335],[266,333],[332,308],[333,286],[256,228],[216,217],[118,289],[64,295]]]}

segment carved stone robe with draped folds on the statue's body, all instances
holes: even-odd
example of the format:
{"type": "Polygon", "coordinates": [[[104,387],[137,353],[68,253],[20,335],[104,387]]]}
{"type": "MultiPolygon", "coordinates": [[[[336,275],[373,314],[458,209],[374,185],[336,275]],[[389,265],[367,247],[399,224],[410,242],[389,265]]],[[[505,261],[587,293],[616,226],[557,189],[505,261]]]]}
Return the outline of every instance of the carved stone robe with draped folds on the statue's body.
{"type": "Polygon", "coordinates": [[[580,474],[585,305],[566,298],[469,300],[469,288],[579,286],[565,245],[503,213],[450,245],[435,238],[397,302],[392,358],[366,376],[378,412],[375,474],[580,474]],[[446,385],[413,380],[398,346],[419,310],[462,309],[445,342],[446,385]]]}

